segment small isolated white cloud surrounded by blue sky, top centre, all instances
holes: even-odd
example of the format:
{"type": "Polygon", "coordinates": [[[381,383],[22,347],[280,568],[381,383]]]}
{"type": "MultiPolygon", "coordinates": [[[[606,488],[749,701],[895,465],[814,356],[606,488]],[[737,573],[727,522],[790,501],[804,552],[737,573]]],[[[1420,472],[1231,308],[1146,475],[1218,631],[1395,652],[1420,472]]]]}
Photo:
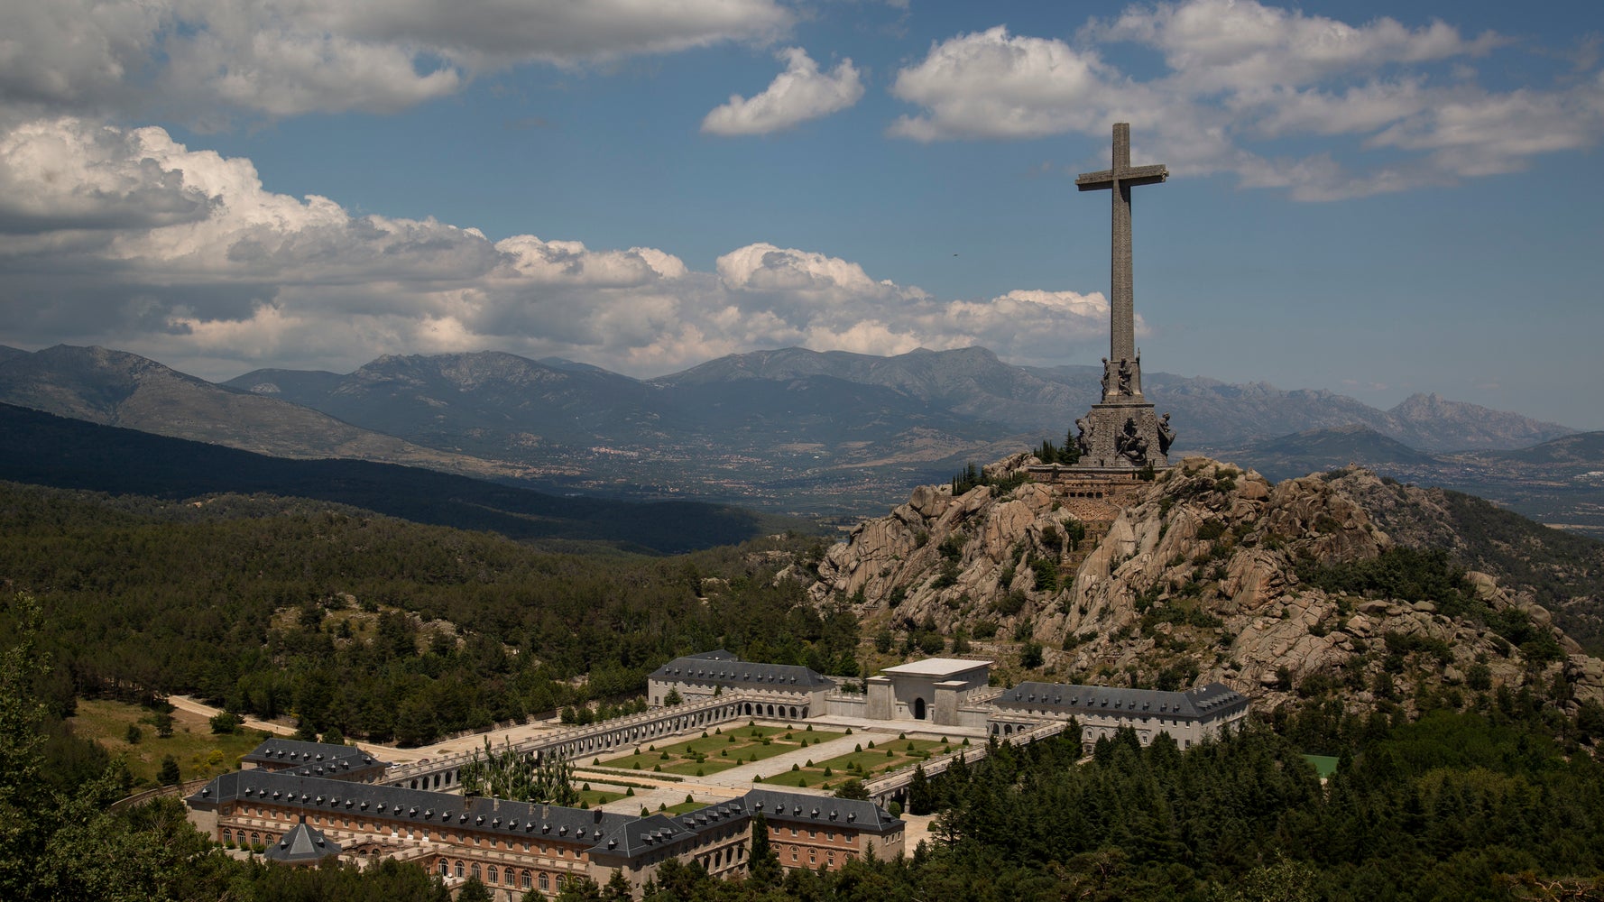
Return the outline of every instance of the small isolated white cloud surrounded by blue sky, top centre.
{"type": "Polygon", "coordinates": [[[852,59],[842,59],[828,74],[818,71],[800,47],[780,51],[786,71],[768,88],[752,98],[731,95],[730,103],[714,108],[703,119],[703,132],[712,135],[767,135],[792,128],[808,119],[839,112],[863,100],[863,82],[852,59]]]}

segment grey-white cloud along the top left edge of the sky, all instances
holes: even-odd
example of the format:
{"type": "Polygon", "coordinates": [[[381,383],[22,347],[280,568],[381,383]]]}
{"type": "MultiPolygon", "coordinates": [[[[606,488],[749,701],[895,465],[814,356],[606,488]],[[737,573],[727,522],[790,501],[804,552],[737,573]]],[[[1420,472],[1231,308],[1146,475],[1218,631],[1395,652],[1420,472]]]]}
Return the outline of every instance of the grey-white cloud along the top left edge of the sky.
{"type": "Polygon", "coordinates": [[[521,63],[767,42],[775,0],[51,0],[0,5],[0,98],[79,112],[388,112],[521,63]]]}

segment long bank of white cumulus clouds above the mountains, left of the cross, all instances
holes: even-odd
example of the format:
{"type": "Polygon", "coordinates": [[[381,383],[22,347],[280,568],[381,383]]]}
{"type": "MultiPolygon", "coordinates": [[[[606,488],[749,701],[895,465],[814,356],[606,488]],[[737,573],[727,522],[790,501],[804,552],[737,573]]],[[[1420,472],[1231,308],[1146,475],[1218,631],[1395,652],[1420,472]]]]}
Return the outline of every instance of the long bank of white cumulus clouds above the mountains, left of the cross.
{"type": "Polygon", "coordinates": [[[696,271],[654,247],[491,241],[266,189],[162,128],[45,119],[0,138],[0,334],[107,343],[202,376],[504,348],[654,376],[754,347],[986,345],[1022,363],[1102,340],[1102,295],[935,299],[768,242],[696,271]],[[27,193],[32,191],[32,193],[27,193]],[[149,199],[149,204],[141,204],[149,199]],[[50,212],[45,215],[43,212],[50,212]],[[26,265],[22,262],[26,260],[26,265]]]}

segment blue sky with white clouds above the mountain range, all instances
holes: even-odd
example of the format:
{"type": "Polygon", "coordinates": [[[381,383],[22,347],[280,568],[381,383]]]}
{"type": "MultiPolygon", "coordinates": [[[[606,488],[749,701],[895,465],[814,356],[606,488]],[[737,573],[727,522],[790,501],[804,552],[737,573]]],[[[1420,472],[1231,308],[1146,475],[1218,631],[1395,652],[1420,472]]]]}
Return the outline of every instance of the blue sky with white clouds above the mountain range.
{"type": "Polygon", "coordinates": [[[1604,429],[1604,3],[0,5],[0,343],[1107,353],[1604,429]]]}

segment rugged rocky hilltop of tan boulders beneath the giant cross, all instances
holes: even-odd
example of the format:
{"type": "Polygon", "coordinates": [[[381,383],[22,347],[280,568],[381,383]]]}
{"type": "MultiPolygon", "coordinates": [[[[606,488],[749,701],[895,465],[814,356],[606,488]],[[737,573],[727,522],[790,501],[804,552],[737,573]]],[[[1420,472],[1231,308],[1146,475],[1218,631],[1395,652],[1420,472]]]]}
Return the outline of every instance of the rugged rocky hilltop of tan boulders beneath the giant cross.
{"type": "Polygon", "coordinates": [[[1604,705],[1604,661],[1556,626],[1538,587],[1453,565],[1447,549],[1471,542],[1445,526],[1440,491],[1360,469],[1272,485],[1189,457],[1096,499],[1028,480],[1030,464],[917,488],[824,552],[812,597],[853,605],[882,652],[895,653],[885,632],[903,652],[929,652],[935,634],[1020,679],[1222,681],[1272,705],[1479,692],[1604,705]]]}

